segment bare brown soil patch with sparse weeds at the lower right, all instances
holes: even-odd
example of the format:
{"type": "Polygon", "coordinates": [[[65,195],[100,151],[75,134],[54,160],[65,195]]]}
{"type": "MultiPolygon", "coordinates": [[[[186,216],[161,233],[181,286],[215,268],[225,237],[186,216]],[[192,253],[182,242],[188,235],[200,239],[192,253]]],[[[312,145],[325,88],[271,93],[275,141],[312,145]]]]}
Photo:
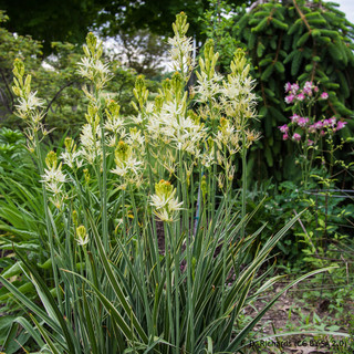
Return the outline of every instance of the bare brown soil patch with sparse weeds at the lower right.
{"type": "MultiPolygon", "coordinates": [[[[330,300],[320,298],[309,302],[303,299],[304,291],[301,288],[306,283],[309,287],[311,285],[310,282],[303,281],[301,285],[293,287],[280,296],[256,326],[258,339],[271,336],[274,332],[277,334],[304,331],[311,333],[311,331],[320,331],[324,325],[325,327],[337,325],[339,332],[348,332],[348,319],[343,316],[354,313],[354,302],[347,301],[343,304],[344,309],[341,312],[343,315],[335,319],[336,313],[329,310],[330,300]],[[314,317],[320,319],[321,323],[316,323],[314,317]]],[[[252,306],[248,306],[244,315],[254,317],[288,284],[287,282],[277,283],[269,294],[257,300],[252,306]]],[[[259,344],[262,347],[259,348],[259,352],[256,351],[254,344],[254,350],[250,348],[248,354],[333,354],[334,348],[331,345],[341,345],[342,340],[341,336],[316,334],[287,335],[278,337],[278,344],[272,343],[277,342],[275,339],[264,340],[259,344]],[[283,345],[282,348],[280,348],[280,344],[283,345]]],[[[347,352],[347,354],[350,353],[347,352]]]]}

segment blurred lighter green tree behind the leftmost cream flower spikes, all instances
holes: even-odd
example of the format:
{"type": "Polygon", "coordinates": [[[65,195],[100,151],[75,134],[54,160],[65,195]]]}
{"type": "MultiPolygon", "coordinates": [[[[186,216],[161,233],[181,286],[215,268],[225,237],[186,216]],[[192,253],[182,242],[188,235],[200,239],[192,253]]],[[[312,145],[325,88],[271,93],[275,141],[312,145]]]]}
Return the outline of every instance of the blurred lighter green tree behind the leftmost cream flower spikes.
{"type": "MultiPolygon", "coordinates": [[[[69,133],[75,136],[84,118],[83,81],[76,74],[82,48],[69,42],[51,43],[51,55],[43,58],[43,45],[29,35],[19,35],[3,28],[8,17],[0,11],[0,126],[21,128],[22,121],[13,113],[15,101],[12,94],[12,67],[15,58],[21,59],[32,75],[32,86],[45,101],[44,124],[54,128],[52,138],[61,138],[69,133]]],[[[108,53],[106,54],[108,55],[108,53]]],[[[108,60],[108,56],[106,58],[108,60]]],[[[147,66],[148,69],[148,66],[147,66]]],[[[136,71],[122,66],[117,59],[112,61],[113,80],[107,86],[107,97],[117,98],[122,113],[133,110],[133,87],[136,71]]],[[[156,82],[147,81],[150,91],[157,90],[156,82]]]]}

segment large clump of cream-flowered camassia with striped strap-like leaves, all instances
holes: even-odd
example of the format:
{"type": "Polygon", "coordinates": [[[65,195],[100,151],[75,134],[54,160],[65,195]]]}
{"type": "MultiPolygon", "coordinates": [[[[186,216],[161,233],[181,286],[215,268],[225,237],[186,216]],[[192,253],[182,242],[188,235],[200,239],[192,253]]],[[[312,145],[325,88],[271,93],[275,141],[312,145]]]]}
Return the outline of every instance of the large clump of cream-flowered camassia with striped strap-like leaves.
{"type": "Polygon", "coordinates": [[[65,149],[45,158],[42,101],[15,61],[13,92],[42,176],[54,288],[17,251],[41,305],[0,278],[34,323],[14,321],[2,351],[21,325],[41,353],[236,353],[281,295],[242,321],[243,309],[280,278],[266,280],[269,253],[296,220],[249,260],[263,228],[247,235],[252,215],[244,202],[240,215],[231,212],[239,198],[232,189],[236,156],[243,162],[244,201],[247,149],[259,138],[250,128],[256,96],[247,59],[237,51],[222,77],[209,41],[188,92],[195,63],[187,30],[180,13],[170,40],[176,72],[155,101],[137,77],[132,117],[121,116],[118,103],[107,98],[110,67],[90,33],[79,63],[87,79],[80,143],[66,138],[65,149]]]}

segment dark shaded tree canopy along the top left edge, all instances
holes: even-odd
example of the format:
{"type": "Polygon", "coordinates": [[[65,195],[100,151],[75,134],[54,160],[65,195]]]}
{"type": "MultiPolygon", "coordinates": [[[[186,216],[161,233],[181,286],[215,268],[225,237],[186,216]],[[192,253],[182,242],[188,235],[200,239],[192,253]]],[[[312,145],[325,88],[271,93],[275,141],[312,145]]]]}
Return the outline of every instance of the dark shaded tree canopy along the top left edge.
{"type": "MultiPolygon", "coordinates": [[[[248,0],[228,0],[235,9],[248,0]]],[[[209,9],[208,0],[0,0],[0,9],[10,17],[7,29],[21,35],[30,34],[43,43],[45,55],[51,43],[82,44],[86,33],[95,28],[110,37],[123,31],[148,29],[153,33],[171,34],[176,13],[185,11],[190,19],[190,32],[200,33],[198,18],[209,9]]]]}

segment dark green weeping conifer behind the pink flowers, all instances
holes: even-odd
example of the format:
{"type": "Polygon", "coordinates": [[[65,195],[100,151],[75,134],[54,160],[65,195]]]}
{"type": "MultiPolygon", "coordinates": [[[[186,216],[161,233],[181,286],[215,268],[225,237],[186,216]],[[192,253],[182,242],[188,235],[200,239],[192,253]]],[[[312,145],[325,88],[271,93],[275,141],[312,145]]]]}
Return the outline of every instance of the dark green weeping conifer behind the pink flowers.
{"type": "MultiPolygon", "coordinates": [[[[251,153],[251,158],[259,162],[252,178],[263,179],[277,170],[275,179],[281,180],[288,174],[285,160],[292,154],[291,144],[281,140],[277,128],[288,123],[291,115],[284,113],[287,82],[301,85],[312,81],[329,93],[327,104],[316,107],[319,118],[336,115],[350,121],[353,115],[353,24],[335,3],[320,0],[292,0],[288,4],[267,1],[251,11],[240,9],[232,20],[233,27],[223,27],[222,30],[229,29],[235,43],[248,51],[253,64],[252,75],[257,80],[262,117],[260,129],[264,132],[264,139],[258,143],[259,149],[251,153]]],[[[225,20],[225,23],[229,22],[225,20]]],[[[223,51],[221,46],[218,50],[222,63],[230,61],[229,49],[223,51]]],[[[350,121],[344,131],[350,134],[353,128],[350,121]]]]}

